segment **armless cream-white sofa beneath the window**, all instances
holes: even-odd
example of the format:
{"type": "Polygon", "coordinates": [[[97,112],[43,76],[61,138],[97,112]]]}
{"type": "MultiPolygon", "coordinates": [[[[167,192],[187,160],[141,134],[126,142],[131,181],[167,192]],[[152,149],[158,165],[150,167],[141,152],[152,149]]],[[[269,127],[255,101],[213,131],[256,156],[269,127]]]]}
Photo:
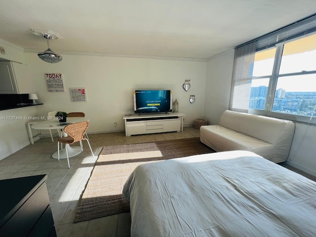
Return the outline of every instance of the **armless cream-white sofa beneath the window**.
{"type": "Polygon", "coordinates": [[[278,163],[288,157],[294,130],[289,120],[227,110],[219,125],[200,127],[200,141],[217,152],[245,150],[278,163]]]}

